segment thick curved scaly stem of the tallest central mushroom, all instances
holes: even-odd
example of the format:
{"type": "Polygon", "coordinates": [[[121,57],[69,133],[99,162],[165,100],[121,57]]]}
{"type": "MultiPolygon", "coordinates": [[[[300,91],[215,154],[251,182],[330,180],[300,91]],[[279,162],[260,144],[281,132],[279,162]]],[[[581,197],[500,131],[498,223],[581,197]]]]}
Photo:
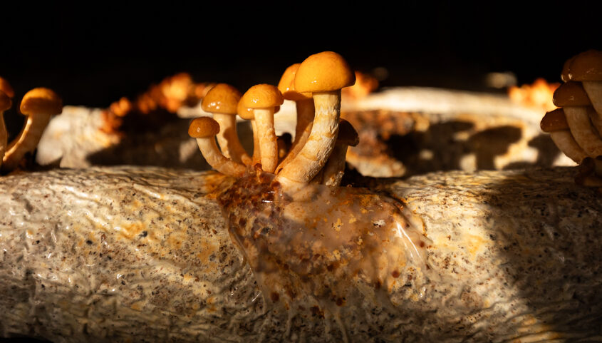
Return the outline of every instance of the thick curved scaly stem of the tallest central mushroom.
{"type": "Polygon", "coordinates": [[[341,90],[313,93],[316,117],[303,148],[279,173],[279,179],[307,183],[321,170],[334,148],[341,116],[341,90]]]}

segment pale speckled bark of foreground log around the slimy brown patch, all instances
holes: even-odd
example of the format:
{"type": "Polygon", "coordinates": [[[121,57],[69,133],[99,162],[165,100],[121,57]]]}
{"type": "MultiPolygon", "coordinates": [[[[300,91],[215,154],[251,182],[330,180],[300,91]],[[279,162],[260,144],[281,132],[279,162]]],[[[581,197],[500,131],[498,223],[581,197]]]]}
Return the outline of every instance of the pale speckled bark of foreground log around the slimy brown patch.
{"type": "MultiPolygon", "coordinates": [[[[259,292],[212,172],[0,178],[0,336],[53,342],[602,340],[602,202],[574,170],[431,173],[373,187],[424,222],[426,266],[336,312],[259,292]],[[302,304],[299,304],[302,305],[302,304]]],[[[319,215],[319,214],[318,214],[319,215]]],[[[374,285],[356,284],[359,290],[374,285]]]]}

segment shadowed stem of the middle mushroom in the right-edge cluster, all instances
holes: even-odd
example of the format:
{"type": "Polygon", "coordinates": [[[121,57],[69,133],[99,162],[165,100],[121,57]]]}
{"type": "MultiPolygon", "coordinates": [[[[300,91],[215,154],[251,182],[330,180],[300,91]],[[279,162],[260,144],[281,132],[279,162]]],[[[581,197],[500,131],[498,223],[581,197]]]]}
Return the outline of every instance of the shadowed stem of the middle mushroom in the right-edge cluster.
{"type": "Polygon", "coordinates": [[[588,108],[569,106],[564,108],[564,113],[578,145],[593,158],[602,155],[602,140],[591,125],[588,108]]]}

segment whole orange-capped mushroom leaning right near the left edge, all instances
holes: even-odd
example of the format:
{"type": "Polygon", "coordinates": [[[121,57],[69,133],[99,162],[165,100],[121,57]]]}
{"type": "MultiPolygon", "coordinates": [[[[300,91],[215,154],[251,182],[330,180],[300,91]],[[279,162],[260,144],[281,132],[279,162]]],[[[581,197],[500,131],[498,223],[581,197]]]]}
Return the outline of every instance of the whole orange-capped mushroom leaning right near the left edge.
{"type": "Polygon", "coordinates": [[[63,101],[48,88],[33,88],[21,101],[21,113],[27,121],[21,133],[9,144],[2,168],[12,170],[19,165],[23,156],[33,151],[50,118],[63,111],[63,101]]]}

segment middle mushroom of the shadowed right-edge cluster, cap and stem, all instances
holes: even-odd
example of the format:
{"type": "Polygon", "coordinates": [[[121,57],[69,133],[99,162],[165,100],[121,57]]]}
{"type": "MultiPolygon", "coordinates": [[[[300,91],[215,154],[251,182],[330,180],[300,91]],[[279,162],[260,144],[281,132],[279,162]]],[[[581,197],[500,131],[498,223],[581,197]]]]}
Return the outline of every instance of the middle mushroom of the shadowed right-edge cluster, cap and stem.
{"type": "Polygon", "coordinates": [[[554,92],[554,105],[563,108],[566,122],[578,145],[591,157],[602,155],[602,139],[590,121],[591,102],[581,84],[571,81],[563,83],[554,92]]]}

